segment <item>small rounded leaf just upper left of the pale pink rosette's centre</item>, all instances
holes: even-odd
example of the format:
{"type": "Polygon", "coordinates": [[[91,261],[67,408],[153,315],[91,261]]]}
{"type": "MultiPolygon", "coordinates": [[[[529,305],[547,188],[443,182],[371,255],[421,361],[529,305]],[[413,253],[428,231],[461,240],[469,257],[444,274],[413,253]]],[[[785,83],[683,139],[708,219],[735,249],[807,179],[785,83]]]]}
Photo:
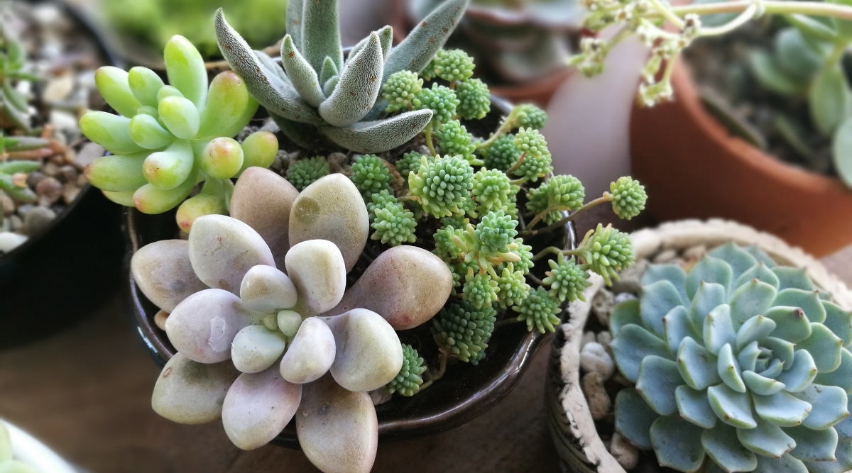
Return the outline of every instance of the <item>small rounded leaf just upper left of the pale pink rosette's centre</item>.
{"type": "Polygon", "coordinates": [[[296,286],[290,277],[272,266],[253,266],[239,285],[239,299],[250,311],[277,312],[296,305],[296,286]]]}

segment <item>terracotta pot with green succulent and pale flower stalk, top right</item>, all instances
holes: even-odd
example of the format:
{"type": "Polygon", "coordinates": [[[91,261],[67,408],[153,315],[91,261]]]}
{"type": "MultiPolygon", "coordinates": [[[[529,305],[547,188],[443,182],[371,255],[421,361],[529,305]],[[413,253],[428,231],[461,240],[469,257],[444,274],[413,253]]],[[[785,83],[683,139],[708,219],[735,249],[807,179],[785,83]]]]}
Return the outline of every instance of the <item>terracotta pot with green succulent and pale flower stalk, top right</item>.
{"type": "MultiPolygon", "coordinates": [[[[634,14],[623,11],[632,8],[632,3],[601,5],[601,12],[607,13],[590,14],[587,28],[600,31],[613,25],[620,32],[612,40],[585,39],[584,53],[575,58],[575,63],[584,72],[594,74],[600,70],[602,57],[613,44],[636,33],[651,48],[638,103],[653,105],[671,98],[673,91],[676,93],[672,103],[636,110],[630,122],[633,167],[636,175],[648,183],[651,194],[658,197],[651,212],[657,219],[692,216],[737,219],[771,231],[816,255],[831,253],[849,242],[846,235],[852,229],[836,217],[845,213],[852,202],[852,194],[841,180],[771,159],[766,152],[741,139],[753,134],[731,136],[705,111],[686,72],[676,66],[680,64],[676,60],[678,55],[694,40],[725,35],[755,18],[758,11],[763,13],[763,9],[750,3],[673,7],[654,4],[647,12],[634,14]],[[722,24],[711,25],[712,14],[718,13],[730,15],[722,24]],[[670,129],[678,131],[659,133],[670,129]],[[659,168],[667,170],[665,177],[658,172],[659,168]],[[715,184],[701,184],[710,181],[715,184]],[[680,198],[685,192],[694,198],[680,198]],[[775,212],[777,208],[785,211],[775,212]]],[[[783,6],[769,3],[765,13],[783,16],[795,26],[785,30],[777,43],[785,48],[782,55],[786,67],[797,78],[793,80],[780,73],[780,61],[766,54],[754,56],[753,69],[760,71],[757,76],[761,77],[761,83],[771,84],[772,90],[786,87],[786,93],[807,95],[810,105],[797,105],[801,108],[797,115],[813,117],[813,123],[808,125],[811,129],[837,134],[834,147],[838,152],[834,154],[843,156],[846,146],[840,123],[845,115],[841,105],[849,93],[838,60],[847,41],[844,31],[849,8],[832,3],[783,6]],[[824,21],[815,17],[823,17],[824,21]],[[839,53],[829,54],[826,48],[839,53]]],[[[756,95],[751,94],[749,100],[756,95]]],[[[776,97],[774,101],[780,100],[776,97]]],[[[797,146],[801,152],[809,146],[800,140],[795,126],[784,121],[779,113],[764,115],[781,123],[785,140],[794,143],[794,149],[797,146]]],[[[744,128],[739,129],[742,132],[744,128]]],[[[832,148],[827,141],[825,147],[832,148]]],[[[841,162],[846,162],[845,158],[841,162]]]]}

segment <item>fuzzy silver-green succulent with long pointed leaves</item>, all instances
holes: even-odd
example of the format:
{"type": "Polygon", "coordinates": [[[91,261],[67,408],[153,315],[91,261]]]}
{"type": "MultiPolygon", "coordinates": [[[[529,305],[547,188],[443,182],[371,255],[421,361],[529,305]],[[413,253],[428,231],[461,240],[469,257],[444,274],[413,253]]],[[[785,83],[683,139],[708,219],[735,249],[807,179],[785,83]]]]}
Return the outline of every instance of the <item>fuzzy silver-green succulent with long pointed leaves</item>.
{"type": "Polygon", "coordinates": [[[216,12],[216,37],[250,94],[296,144],[309,146],[305,137],[314,135],[315,128],[352,151],[388,151],[420,133],[432,111],[379,119],[387,106],[379,98],[383,83],[397,71],[423,70],[446,43],[467,3],[442,3],[395,48],[390,26],[373,31],[344,60],[337,1],[291,0],[288,34],[281,44],[283,70],[267,55],[252,51],[227,24],[222,9],[216,12]]]}

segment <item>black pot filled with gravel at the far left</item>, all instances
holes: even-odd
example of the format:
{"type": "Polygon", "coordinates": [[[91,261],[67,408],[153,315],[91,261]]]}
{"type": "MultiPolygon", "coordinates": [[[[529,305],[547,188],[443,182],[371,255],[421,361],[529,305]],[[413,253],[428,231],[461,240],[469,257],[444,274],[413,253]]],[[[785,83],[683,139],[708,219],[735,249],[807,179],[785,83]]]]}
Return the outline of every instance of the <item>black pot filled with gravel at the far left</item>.
{"type": "MultiPolygon", "coordinates": [[[[117,64],[89,23],[60,7],[97,44],[103,64],[117,64]]],[[[86,185],[47,229],[0,256],[0,348],[68,328],[116,293],[126,251],[120,217],[86,185]]]]}

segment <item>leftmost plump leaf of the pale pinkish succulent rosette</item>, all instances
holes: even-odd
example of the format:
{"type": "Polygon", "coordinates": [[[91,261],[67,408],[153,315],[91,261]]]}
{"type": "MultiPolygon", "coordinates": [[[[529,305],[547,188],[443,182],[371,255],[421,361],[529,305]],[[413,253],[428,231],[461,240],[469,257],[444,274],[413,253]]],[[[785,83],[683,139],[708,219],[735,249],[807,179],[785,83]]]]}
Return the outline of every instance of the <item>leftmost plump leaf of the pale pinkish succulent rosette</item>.
{"type": "Polygon", "coordinates": [[[160,240],[139,248],[130,259],[130,271],[142,293],[166,312],[207,288],[195,276],[186,240],[160,240]]]}

